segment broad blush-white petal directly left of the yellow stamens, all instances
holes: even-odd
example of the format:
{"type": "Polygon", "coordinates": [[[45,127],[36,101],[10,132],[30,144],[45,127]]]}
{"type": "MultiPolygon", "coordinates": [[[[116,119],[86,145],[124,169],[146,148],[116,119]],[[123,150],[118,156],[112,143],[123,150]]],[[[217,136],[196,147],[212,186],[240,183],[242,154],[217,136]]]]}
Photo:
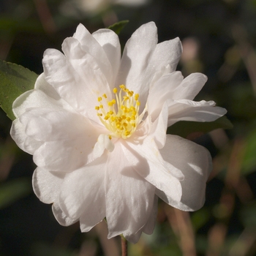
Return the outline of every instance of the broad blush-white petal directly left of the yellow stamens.
{"type": "Polygon", "coordinates": [[[87,118],[67,111],[33,109],[20,117],[26,135],[41,141],[34,162],[46,170],[69,171],[91,162],[101,129],[87,118]]]}

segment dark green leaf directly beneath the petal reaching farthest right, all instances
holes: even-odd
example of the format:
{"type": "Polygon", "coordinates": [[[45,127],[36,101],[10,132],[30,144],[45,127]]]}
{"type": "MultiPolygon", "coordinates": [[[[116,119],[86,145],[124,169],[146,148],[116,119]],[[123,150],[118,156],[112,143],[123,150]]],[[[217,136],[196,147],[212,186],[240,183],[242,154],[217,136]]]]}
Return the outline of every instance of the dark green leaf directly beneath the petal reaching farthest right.
{"type": "Polygon", "coordinates": [[[193,132],[207,133],[219,128],[232,129],[233,124],[231,124],[226,116],[211,122],[178,121],[167,129],[167,133],[187,138],[193,132]]]}

